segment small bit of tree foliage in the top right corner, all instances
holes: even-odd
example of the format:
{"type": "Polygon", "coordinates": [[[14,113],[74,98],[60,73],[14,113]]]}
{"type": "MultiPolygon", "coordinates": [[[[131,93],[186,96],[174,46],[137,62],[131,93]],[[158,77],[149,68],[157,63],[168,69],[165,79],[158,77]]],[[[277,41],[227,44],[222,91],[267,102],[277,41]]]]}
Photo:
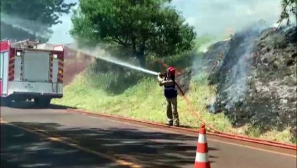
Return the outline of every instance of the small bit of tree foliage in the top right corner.
{"type": "Polygon", "coordinates": [[[287,25],[290,23],[290,14],[293,14],[297,22],[297,0],[282,0],[282,13],[280,14],[279,23],[287,20],[287,25]]]}

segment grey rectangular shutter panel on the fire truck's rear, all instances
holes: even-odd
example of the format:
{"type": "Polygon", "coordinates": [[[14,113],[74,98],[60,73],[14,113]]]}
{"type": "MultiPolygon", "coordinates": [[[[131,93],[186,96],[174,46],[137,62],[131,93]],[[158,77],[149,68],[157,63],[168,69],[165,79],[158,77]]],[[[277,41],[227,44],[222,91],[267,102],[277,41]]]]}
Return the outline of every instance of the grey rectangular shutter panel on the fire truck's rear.
{"type": "Polygon", "coordinates": [[[24,50],[23,80],[48,82],[50,80],[50,52],[24,50]]]}

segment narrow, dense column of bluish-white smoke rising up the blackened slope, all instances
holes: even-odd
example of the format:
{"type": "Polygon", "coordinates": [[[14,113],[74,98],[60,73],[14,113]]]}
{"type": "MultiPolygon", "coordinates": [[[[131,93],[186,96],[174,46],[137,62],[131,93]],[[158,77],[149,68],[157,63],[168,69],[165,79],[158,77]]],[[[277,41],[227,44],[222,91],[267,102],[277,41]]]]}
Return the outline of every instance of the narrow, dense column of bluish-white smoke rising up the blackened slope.
{"type": "MultiPolygon", "coordinates": [[[[229,104],[227,104],[226,109],[230,109],[236,102],[242,102],[242,98],[245,97],[245,92],[247,91],[247,80],[252,67],[252,52],[254,52],[254,47],[256,45],[256,39],[260,36],[263,29],[267,28],[267,25],[262,25],[261,23],[257,25],[252,25],[241,31],[235,36],[236,38],[241,38],[236,43],[231,46],[229,62],[238,57],[236,62],[232,62],[231,72],[229,76],[229,83],[224,83],[223,90],[226,92],[229,99],[229,104]],[[235,45],[236,48],[233,48],[235,45]]],[[[228,60],[228,59],[226,59],[228,60]]]]}

